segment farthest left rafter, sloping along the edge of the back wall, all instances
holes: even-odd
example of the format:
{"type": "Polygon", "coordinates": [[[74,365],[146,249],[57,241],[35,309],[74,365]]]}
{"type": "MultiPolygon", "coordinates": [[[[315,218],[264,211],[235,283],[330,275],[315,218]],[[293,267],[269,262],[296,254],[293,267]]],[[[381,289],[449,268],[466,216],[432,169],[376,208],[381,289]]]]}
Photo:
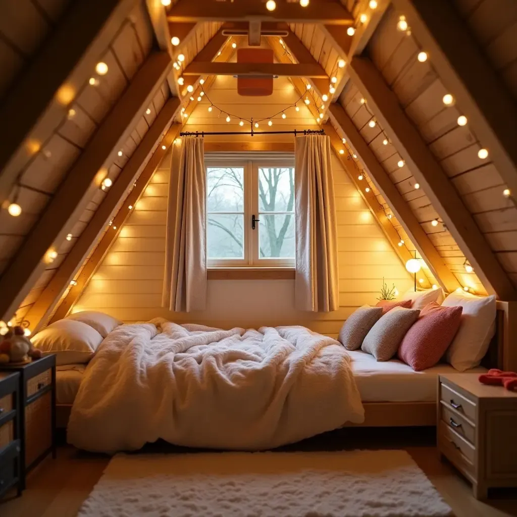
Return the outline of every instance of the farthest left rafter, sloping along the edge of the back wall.
{"type": "Polygon", "coordinates": [[[168,149],[171,146],[171,144],[176,139],[180,127],[181,126],[179,124],[173,124],[170,127],[169,131],[165,134],[161,142],[159,143],[158,147],[153,153],[153,156],[151,156],[150,160],[147,162],[139,178],[135,181],[133,190],[131,190],[131,192],[127,196],[126,201],[122,204],[122,206],[117,212],[117,215],[113,218],[111,228],[100,239],[97,247],[95,248],[95,251],[92,253],[92,256],[88,258],[88,261],[81,269],[79,276],[75,280],[77,284],[73,285],[70,288],[67,295],[62,299],[59,307],[52,316],[50,323],[64,318],[68,314],[70,309],[73,307],[74,303],[81,296],[82,292],[84,291],[84,288],[88,285],[88,282],[95,274],[95,271],[97,271],[97,268],[102,264],[103,258],[108,253],[112,244],[118,237],[118,234],[120,233],[122,226],[129,218],[131,211],[128,209],[128,205],[136,205],[136,203],[140,199],[140,196],[144,192],[147,184],[149,183],[149,180],[153,176],[156,168],[160,164],[165,154],[168,152],[168,149]],[[163,149],[163,146],[165,146],[165,149],[163,149]]]}

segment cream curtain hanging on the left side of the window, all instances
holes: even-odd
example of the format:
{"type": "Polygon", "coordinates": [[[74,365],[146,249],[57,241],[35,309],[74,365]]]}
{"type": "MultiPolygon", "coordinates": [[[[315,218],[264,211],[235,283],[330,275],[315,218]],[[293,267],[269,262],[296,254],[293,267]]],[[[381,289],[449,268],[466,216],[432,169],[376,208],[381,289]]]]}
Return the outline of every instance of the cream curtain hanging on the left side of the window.
{"type": "Polygon", "coordinates": [[[206,193],[203,139],[173,146],[162,307],[203,310],[206,305],[206,193]]]}

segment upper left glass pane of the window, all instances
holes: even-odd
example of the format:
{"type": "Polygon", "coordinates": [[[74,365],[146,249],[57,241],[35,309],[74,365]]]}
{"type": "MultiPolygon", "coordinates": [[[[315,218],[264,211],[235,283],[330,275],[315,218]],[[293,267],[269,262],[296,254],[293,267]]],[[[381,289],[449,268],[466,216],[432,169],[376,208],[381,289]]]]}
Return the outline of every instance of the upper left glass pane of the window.
{"type": "Polygon", "coordinates": [[[244,211],[244,169],[208,167],[206,198],[209,212],[244,211]]]}

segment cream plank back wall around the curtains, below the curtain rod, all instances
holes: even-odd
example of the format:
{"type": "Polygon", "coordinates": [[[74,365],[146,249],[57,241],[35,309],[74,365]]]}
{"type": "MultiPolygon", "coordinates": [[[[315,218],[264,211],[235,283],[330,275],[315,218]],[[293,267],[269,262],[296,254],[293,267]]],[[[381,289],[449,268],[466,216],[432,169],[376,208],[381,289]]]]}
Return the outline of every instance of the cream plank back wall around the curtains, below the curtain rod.
{"type": "Polygon", "coordinates": [[[173,313],[161,308],[170,161],[168,153],[73,312],[96,309],[126,322],[164,316],[224,328],[302,324],[336,337],[343,320],[358,306],[376,302],[383,276],[401,293],[412,286],[412,278],[333,157],[339,236],[338,311],[296,311],[293,280],[210,280],[206,311],[173,313]]]}

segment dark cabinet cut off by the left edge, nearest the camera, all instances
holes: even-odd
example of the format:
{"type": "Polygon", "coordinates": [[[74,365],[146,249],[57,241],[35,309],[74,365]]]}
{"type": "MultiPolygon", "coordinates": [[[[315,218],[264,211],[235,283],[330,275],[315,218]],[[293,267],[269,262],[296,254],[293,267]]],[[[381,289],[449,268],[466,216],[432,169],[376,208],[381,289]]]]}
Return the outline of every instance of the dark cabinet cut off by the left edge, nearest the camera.
{"type": "Polygon", "coordinates": [[[0,497],[15,485],[22,492],[19,377],[0,373],[0,497]]]}

